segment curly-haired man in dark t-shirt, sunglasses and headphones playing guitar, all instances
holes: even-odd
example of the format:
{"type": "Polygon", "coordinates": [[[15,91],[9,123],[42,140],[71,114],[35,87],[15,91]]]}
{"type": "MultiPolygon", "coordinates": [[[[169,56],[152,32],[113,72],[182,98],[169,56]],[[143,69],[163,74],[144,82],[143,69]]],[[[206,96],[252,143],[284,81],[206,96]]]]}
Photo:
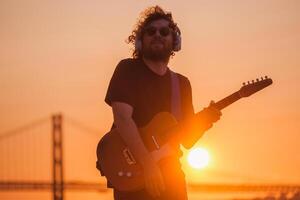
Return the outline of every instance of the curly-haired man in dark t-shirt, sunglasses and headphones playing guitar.
{"type": "MultiPolygon", "coordinates": [[[[146,9],[128,43],[135,45],[132,59],[122,60],[110,81],[105,102],[112,107],[114,124],[143,168],[145,188],[140,191],[121,192],[114,188],[115,200],[185,200],[187,199],[184,173],[178,146],[165,144],[163,150],[149,152],[145,147],[139,127],[147,125],[160,112],[171,112],[171,70],[169,59],[180,50],[179,28],[159,6],[146,9]],[[163,161],[159,158],[163,157],[163,161]],[[169,166],[162,169],[158,162],[169,166]]],[[[180,88],[179,121],[187,121],[183,127],[186,137],[181,144],[191,148],[201,135],[220,118],[220,111],[209,106],[202,117],[190,120],[194,115],[189,80],[176,73],[180,88]]]]}

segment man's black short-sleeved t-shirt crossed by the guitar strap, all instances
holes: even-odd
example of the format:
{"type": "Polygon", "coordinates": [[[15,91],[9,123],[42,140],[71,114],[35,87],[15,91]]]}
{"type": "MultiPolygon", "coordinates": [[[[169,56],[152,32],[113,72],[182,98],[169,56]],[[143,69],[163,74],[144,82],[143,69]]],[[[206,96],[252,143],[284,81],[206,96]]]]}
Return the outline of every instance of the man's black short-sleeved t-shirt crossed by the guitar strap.
{"type": "MultiPolygon", "coordinates": [[[[189,80],[177,73],[183,119],[194,114],[189,80]]],[[[142,59],[124,59],[117,65],[109,83],[105,102],[118,101],[133,107],[132,118],[138,127],[147,125],[159,112],[171,113],[171,71],[153,72],[142,59]]]]}

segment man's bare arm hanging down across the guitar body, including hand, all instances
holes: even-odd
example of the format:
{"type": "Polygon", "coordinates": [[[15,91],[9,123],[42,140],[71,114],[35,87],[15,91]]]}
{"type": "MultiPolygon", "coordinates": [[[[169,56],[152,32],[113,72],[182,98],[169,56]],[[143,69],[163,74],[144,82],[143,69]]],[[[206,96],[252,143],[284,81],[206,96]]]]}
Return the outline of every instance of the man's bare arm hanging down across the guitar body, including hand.
{"type": "Polygon", "coordinates": [[[133,108],[129,104],[112,102],[114,124],[125,144],[144,170],[145,188],[152,196],[160,196],[164,190],[163,177],[153,156],[146,149],[135,122],[133,108]]]}

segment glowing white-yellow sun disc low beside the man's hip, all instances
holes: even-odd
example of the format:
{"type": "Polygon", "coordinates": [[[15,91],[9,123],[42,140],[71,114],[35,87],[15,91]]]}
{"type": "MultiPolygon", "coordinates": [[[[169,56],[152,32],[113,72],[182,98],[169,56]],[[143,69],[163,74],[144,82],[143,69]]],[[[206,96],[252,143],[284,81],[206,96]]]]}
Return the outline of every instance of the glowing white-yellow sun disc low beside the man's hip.
{"type": "Polygon", "coordinates": [[[189,152],[187,160],[191,167],[203,169],[208,165],[210,156],[206,149],[195,148],[189,152]]]}

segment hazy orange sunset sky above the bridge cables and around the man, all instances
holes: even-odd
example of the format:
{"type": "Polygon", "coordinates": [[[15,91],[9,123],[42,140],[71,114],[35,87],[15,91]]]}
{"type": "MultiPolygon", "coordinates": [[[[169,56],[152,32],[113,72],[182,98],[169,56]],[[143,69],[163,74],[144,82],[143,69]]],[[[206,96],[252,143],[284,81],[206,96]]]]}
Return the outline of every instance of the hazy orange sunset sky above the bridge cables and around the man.
{"type": "Polygon", "coordinates": [[[300,183],[297,0],[0,1],[0,133],[57,111],[107,131],[108,81],[130,56],[124,41],[138,14],[155,4],[181,28],[170,67],[191,81],[196,111],[244,81],[274,80],[223,111],[197,144],[211,152],[212,172],[189,171],[189,180],[234,181],[216,170],[300,183]]]}

